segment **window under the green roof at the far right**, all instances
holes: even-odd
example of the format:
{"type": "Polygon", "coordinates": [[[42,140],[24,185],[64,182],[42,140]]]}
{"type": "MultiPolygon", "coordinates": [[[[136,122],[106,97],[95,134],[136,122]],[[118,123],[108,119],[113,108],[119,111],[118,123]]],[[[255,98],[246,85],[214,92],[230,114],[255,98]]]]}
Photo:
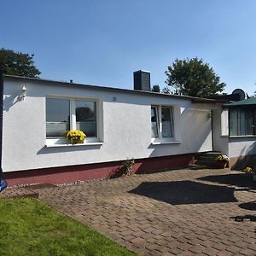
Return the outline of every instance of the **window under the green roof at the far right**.
{"type": "Polygon", "coordinates": [[[253,136],[255,132],[256,109],[230,109],[230,136],[253,136]]]}

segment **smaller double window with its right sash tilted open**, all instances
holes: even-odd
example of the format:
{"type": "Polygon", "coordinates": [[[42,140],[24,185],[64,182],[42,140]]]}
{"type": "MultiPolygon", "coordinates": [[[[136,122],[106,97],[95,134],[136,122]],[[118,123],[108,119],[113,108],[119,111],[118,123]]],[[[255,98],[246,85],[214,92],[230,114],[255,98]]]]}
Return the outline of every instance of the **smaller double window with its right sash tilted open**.
{"type": "Polygon", "coordinates": [[[154,142],[172,141],[174,137],[172,108],[164,106],[151,107],[151,134],[154,142]]]}

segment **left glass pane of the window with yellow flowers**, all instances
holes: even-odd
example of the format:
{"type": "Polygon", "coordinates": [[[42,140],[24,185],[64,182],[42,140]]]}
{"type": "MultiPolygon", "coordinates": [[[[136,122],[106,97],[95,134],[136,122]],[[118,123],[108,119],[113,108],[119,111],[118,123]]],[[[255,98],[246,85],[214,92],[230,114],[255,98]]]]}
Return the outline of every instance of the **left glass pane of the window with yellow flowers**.
{"type": "Polygon", "coordinates": [[[46,99],[46,137],[65,137],[69,127],[69,100],[46,99]]]}

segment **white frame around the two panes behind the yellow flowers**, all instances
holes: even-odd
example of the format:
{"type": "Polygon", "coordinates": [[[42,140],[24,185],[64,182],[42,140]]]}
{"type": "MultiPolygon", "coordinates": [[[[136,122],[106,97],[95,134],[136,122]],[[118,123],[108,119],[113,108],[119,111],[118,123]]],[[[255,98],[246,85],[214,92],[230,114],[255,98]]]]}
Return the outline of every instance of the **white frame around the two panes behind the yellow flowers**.
{"type": "MultiPolygon", "coordinates": [[[[96,137],[86,137],[84,144],[86,143],[99,143],[100,142],[100,101],[94,98],[82,98],[82,97],[68,97],[68,96],[45,96],[45,124],[46,124],[46,99],[68,100],[69,101],[69,129],[76,130],[76,101],[83,102],[95,102],[96,103],[96,137]]],[[[45,127],[46,137],[46,127],[45,127]]],[[[46,144],[68,144],[66,137],[46,137],[46,144]]],[[[79,145],[83,145],[79,144],[79,145]]]]}

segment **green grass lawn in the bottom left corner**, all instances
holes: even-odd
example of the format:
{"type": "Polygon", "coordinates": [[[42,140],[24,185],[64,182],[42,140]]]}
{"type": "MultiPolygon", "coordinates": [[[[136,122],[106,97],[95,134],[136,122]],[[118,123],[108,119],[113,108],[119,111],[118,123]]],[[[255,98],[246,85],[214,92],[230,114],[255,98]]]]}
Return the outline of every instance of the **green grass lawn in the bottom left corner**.
{"type": "Polygon", "coordinates": [[[135,255],[31,198],[0,200],[1,255],[135,255]]]}

